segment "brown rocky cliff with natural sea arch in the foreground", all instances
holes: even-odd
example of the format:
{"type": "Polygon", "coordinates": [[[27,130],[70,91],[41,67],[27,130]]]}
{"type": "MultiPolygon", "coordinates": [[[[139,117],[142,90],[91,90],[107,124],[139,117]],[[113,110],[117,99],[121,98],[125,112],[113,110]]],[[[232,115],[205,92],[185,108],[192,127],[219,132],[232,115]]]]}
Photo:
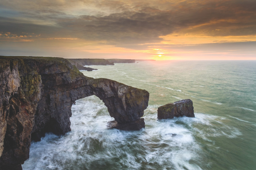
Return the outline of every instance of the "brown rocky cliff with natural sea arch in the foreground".
{"type": "Polygon", "coordinates": [[[0,82],[0,169],[21,169],[31,139],[69,132],[77,99],[98,96],[127,130],[143,127],[149,100],[146,90],[86,77],[63,58],[0,56],[0,82]]]}

